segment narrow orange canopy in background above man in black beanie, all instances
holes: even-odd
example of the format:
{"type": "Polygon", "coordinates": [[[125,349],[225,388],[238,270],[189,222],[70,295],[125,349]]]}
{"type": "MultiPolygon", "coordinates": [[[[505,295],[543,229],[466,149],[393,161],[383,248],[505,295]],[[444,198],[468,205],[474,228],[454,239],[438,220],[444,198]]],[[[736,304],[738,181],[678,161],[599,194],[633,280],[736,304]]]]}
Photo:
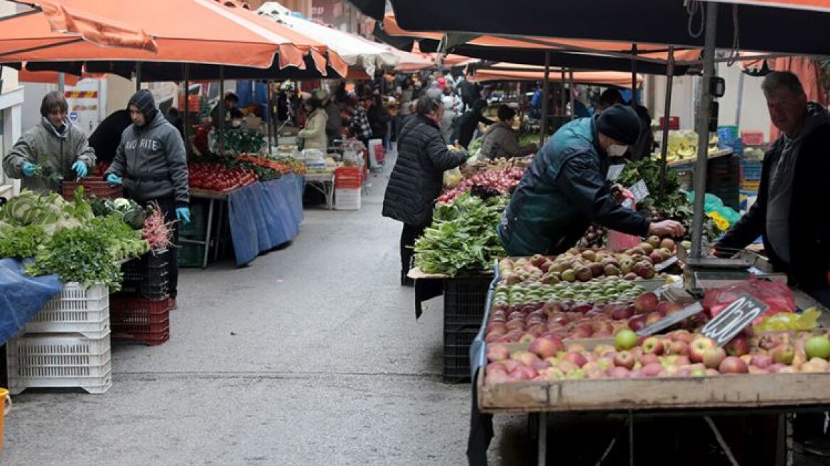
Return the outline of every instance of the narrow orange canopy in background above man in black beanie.
{"type": "MultiPolygon", "coordinates": [[[[549,79],[559,80],[562,70],[550,70],[549,79]]],[[[544,80],[544,69],[540,66],[499,63],[492,68],[475,70],[469,80],[544,80]]],[[[631,88],[631,73],[619,71],[574,71],[574,83],[587,85],[613,85],[631,88]]],[[[637,75],[637,85],[642,85],[642,75],[637,75]]]]}

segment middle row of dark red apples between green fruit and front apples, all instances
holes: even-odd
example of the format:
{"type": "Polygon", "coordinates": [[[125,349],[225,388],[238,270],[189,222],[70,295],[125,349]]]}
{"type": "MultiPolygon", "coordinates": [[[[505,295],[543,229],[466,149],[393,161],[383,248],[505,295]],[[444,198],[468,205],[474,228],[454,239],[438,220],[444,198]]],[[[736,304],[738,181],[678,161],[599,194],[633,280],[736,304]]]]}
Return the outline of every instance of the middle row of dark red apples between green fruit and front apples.
{"type": "MultiPolygon", "coordinates": [[[[562,339],[613,337],[622,330],[645,328],[684,308],[681,303],[657,299],[651,292],[627,303],[590,304],[561,302],[527,303],[522,306],[496,304],[485,331],[488,343],[533,342],[540,337],[562,339]]],[[[706,323],[706,313],[690,318],[690,328],[706,323]]]]}

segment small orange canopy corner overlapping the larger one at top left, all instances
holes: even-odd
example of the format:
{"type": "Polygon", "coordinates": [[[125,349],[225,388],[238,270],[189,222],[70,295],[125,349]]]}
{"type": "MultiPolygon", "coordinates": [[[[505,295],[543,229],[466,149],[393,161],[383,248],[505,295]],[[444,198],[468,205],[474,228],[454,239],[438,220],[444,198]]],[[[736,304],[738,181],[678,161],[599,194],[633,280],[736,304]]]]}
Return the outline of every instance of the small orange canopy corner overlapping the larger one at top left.
{"type": "Polygon", "coordinates": [[[141,49],[148,53],[157,50],[153,38],[139,28],[58,3],[43,2],[41,9],[42,12],[0,17],[0,61],[7,61],[8,56],[19,52],[83,41],[90,45],[141,49]],[[23,18],[27,18],[25,24],[23,18]]]}

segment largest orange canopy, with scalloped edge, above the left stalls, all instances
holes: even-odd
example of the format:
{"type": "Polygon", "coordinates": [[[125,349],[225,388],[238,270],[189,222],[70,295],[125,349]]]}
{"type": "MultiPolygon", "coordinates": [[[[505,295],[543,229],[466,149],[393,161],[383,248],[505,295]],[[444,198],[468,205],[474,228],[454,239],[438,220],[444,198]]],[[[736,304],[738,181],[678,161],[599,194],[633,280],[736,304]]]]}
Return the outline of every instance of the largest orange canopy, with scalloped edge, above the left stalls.
{"type": "MultiPolygon", "coordinates": [[[[54,0],[32,0],[39,6],[54,0]]],[[[305,69],[305,56],[325,75],[326,64],[345,75],[347,66],[325,44],[267,18],[239,2],[216,0],[142,0],[101,2],[61,0],[61,6],[94,12],[108,21],[142,27],[154,37],[158,53],[101,48],[78,42],[46,50],[11,54],[4,61],[156,61],[245,66],[266,69],[278,57],[280,69],[305,69]]],[[[61,15],[46,7],[42,13],[9,20],[18,31],[42,31],[45,15],[61,24],[61,15]]]]}

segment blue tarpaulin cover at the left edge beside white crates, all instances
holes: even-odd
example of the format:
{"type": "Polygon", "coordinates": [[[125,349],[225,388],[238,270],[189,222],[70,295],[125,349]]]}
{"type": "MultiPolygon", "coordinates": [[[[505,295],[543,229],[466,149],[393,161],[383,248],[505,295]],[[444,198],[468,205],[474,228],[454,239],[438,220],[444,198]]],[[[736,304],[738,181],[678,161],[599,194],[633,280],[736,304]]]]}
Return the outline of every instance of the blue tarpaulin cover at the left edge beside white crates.
{"type": "Polygon", "coordinates": [[[62,287],[57,275],[32,277],[23,274],[17,260],[0,260],[0,344],[23,328],[62,287]]]}

